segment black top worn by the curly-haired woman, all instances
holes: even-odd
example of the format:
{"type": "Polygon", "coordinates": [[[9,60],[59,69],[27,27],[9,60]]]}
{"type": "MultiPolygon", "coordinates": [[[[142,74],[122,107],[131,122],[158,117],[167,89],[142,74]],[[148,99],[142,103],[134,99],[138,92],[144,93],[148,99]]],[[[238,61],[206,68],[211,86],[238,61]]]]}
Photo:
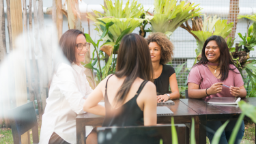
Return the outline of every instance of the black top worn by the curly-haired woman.
{"type": "Polygon", "coordinates": [[[175,73],[173,67],[169,65],[162,65],[162,73],[156,79],[154,79],[154,84],[156,85],[157,95],[170,93],[169,92],[169,78],[175,73]]]}

